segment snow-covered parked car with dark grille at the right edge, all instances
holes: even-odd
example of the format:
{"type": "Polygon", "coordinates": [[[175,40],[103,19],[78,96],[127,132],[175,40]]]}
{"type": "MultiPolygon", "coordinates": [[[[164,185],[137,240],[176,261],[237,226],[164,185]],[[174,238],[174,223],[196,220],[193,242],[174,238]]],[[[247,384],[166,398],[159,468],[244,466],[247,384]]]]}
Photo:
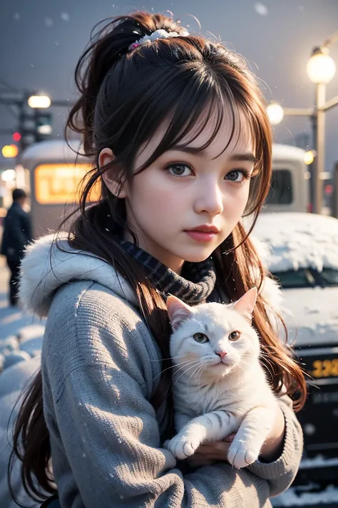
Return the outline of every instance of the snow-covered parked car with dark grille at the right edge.
{"type": "Polygon", "coordinates": [[[289,341],[309,374],[308,401],[298,414],[304,457],[297,481],[338,484],[338,219],[262,214],[253,234],[270,247],[289,341]]]}

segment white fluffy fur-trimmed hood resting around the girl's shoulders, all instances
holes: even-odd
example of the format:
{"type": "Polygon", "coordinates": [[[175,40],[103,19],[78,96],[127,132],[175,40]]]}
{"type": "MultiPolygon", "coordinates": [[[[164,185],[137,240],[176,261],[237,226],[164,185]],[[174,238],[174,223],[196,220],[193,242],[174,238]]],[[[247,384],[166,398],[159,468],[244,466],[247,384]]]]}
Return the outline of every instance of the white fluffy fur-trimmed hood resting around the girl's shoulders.
{"type": "MultiPolygon", "coordinates": [[[[256,239],[254,243],[266,266],[267,249],[256,239]]],[[[133,289],[110,264],[89,252],[71,248],[67,234],[63,233],[57,240],[53,234],[42,236],[27,247],[21,264],[19,290],[24,311],[46,317],[56,290],[74,280],[98,282],[131,304],[138,305],[133,289]]],[[[272,279],[265,279],[262,297],[272,308],[280,309],[282,294],[272,279]]]]}

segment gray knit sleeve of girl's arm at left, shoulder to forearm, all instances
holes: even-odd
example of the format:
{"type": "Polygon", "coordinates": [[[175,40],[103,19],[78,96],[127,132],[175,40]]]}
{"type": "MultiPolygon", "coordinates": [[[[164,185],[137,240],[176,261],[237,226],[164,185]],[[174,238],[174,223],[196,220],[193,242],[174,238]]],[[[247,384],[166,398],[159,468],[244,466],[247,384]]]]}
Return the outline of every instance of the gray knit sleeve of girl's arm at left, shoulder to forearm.
{"type": "Polygon", "coordinates": [[[121,323],[113,309],[108,317],[106,311],[100,306],[94,312],[79,309],[76,333],[66,319],[64,324],[58,319],[58,337],[65,337],[63,354],[45,351],[47,363],[59,362],[53,368],[49,363],[46,387],[54,393],[53,409],[45,412],[55,418],[48,420],[48,429],[62,506],[270,506],[267,480],[246,469],[217,464],[183,476],[173,454],[161,447],[145,382],[152,366],[146,361],[144,337],[137,327],[121,323]],[[72,356],[76,361],[71,362],[72,356]],[[70,364],[56,387],[53,376],[70,364]]]}

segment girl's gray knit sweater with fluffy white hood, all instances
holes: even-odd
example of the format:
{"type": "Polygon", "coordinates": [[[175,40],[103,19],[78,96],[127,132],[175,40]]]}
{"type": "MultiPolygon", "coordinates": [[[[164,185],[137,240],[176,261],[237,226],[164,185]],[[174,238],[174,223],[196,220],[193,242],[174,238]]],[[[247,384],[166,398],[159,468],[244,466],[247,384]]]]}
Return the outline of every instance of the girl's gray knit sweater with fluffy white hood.
{"type": "Polygon", "coordinates": [[[160,355],[135,294],[100,259],[57,249],[50,256],[50,242],[29,248],[21,299],[48,313],[43,409],[61,506],[270,507],[269,497],[287,489],[302,455],[290,399],[280,398],[286,438],[276,462],[240,471],[223,462],[183,476],[161,447],[165,407],[155,412],[149,402],[160,355]]]}

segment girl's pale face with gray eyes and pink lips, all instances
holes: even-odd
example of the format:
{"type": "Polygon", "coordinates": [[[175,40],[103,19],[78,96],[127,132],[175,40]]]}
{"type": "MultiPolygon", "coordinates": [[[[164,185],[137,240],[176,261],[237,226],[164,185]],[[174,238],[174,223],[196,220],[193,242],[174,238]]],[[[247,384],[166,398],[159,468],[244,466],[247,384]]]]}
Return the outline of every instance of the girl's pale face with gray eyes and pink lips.
{"type": "MultiPolygon", "coordinates": [[[[240,132],[235,131],[225,149],[232,129],[226,116],[231,118],[225,114],[208,149],[196,151],[210,139],[215,117],[188,146],[166,151],[120,194],[126,198],[128,224],[139,246],[178,273],[185,261],[207,259],[235,228],[247,204],[255,166],[250,129],[243,116],[240,132]]],[[[162,137],[158,131],[144,147],[136,169],[162,137]]]]}

